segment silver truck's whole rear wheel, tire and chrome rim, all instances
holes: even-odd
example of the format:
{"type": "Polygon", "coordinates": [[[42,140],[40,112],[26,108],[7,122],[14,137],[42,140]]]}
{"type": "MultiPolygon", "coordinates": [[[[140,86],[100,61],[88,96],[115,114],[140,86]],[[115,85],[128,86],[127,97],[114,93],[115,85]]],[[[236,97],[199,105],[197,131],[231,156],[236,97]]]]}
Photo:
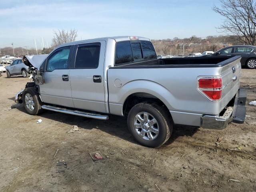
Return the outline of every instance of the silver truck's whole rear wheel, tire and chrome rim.
{"type": "Polygon", "coordinates": [[[140,144],[158,147],[170,138],[172,119],[158,104],[139,103],[128,114],[128,128],[140,144]]]}

